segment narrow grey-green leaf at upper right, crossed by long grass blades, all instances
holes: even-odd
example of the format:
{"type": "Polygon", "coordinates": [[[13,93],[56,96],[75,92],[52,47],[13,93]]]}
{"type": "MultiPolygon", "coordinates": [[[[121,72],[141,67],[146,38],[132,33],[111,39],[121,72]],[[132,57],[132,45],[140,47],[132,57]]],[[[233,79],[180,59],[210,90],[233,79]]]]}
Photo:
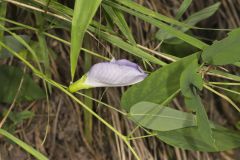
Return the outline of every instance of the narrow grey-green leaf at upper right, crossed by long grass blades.
{"type": "MultiPolygon", "coordinates": [[[[192,15],[190,15],[186,20],[183,21],[183,23],[187,24],[188,26],[194,26],[196,25],[198,22],[209,18],[210,16],[212,16],[218,9],[220,6],[220,2],[217,2],[209,7],[206,7],[196,13],[193,13],[192,15]]],[[[186,32],[188,31],[191,27],[180,27],[180,26],[175,26],[176,29],[182,31],[182,32],[186,32]]],[[[176,37],[173,34],[168,33],[165,30],[159,30],[156,33],[156,38],[158,40],[168,40],[171,38],[176,37]]],[[[166,41],[166,43],[168,43],[168,41],[166,41]]]]}

